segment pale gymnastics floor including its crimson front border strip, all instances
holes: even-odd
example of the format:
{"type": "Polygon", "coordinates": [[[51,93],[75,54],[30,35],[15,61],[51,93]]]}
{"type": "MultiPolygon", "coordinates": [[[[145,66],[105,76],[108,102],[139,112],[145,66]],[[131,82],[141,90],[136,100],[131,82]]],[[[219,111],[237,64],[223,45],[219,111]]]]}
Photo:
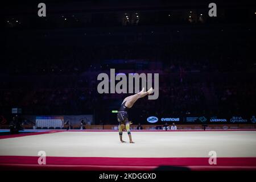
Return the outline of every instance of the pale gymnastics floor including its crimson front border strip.
{"type": "MultiPolygon", "coordinates": [[[[134,144],[119,142],[117,131],[8,136],[0,136],[0,167],[5,169],[256,169],[256,131],[137,131],[132,132],[134,144]],[[46,165],[38,164],[39,151],[46,152],[46,165]],[[209,164],[210,151],[216,152],[217,164],[209,164]]],[[[127,133],[123,139],[129,140],[127,133]]]]}

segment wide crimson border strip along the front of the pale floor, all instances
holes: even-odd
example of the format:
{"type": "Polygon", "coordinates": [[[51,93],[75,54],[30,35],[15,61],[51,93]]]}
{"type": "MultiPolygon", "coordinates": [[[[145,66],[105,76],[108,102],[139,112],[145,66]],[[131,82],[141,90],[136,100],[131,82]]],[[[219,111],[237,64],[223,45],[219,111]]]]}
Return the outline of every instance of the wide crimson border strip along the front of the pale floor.
{"type": "Polygon", "coordinates": [[[39,165],[37,163],[38,158],[38,156],[0,156],[0,169],[151,171],[159,166],[171,166],[185,167],[192,171],[256,171],[256,158],[217,158],[217,165],[209,165],[209,158],[85,158],[53,156],[47,157],[46,165],[39,165]]]}

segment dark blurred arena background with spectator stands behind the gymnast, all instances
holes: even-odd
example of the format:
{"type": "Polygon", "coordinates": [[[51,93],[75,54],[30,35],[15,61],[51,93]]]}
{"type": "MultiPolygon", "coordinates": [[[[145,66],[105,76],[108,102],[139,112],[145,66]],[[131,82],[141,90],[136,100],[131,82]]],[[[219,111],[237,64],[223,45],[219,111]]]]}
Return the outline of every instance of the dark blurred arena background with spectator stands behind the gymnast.
{"type": "Polygon", "coordinates": [[[115,123],[111,110],[127,94],[97,92],[97,75],[110,68],[159,73],[158,100],[139,100],[131,110],[136,118],[255,114],[254,10],[222,4],[219,16],[209,18],[199,3],[158,10],[154,3],[95,12],[73,3],[70,11],[56,6],[44,18],[7,13],[0,114],[20,107],[24,114],[94,114],[96,123],[115,123]]]}

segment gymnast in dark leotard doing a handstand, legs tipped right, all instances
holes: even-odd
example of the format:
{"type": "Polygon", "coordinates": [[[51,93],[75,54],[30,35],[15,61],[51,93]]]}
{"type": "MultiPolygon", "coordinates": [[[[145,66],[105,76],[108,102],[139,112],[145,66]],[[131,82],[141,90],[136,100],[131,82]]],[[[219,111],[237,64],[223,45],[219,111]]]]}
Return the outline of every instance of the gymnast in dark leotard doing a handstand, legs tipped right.
{"type": "Polygon", "coordinates": [[[119,138],[121,142],[125,142],[122,139],[123,135],[123,129],[126,127],[127,134],[129,135],[130,143],[134,143],[131,139],[131,132],[130,132],[130,124],[128,119],[128,110],[133,106],[133,104],[142,97],[147,96],[148,94],[151,94],[153,92],[153,89],[150,88],[147,92],[144,92],[144,88],[141,90],[141,92],[134,94],[133,96],[126,97],[125,100],[123,100],[122,105],[117,113],[117,121],[119,122],[118,130],[119,130],[119,138]]]}

